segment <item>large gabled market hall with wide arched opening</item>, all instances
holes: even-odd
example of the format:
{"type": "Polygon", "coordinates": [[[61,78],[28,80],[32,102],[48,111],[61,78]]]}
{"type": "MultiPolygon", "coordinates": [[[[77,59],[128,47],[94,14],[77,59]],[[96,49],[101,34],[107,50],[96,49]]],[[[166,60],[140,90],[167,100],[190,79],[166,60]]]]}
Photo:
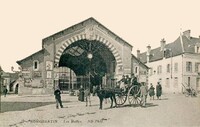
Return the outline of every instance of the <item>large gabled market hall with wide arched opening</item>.
{"type": "MultiPolygon", "coordinates": [[[[52,93],[93,85],[113,87],[133,73],[132,45],[94,18],[42,40],[42,49],[17,61],[22,68],[19,94],[52,93]]],[[[145,81],[144,81],[145,82],[145,81]]]]}

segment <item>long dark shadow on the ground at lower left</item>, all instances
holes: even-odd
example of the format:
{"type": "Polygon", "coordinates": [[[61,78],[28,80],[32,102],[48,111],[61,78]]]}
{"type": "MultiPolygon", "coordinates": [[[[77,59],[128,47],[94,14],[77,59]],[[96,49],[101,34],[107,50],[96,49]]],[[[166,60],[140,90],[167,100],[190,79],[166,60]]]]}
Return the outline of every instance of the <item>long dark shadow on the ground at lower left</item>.
{"type": "MultiPolygon", "coordinates": [[[[63,101],[63,103],[69,101],[63,101]]],[[[1,102],[1,113],[9,111],[24,111],[45,105],[55,104],[55,102],[1,102]]]]}

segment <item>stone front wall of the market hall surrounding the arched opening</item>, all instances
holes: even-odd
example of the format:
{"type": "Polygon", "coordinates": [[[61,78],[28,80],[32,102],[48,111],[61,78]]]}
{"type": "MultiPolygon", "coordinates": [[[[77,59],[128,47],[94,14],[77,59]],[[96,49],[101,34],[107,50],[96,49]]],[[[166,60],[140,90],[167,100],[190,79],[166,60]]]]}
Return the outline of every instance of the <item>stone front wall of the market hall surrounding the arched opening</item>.
{"type": "MultiPolygon", "coordinates": [[[[22,67],[22,83],[20,93],[46,94],[51,93],[53,85],[57,84],[57,68],[66,48],[79,41],[98,42],[114,57],[115,65],[106,60],[105,53],[99,53],[104,58],[107,68],[107,83],[111,78],[119,80],[123,74],[132,72],[132,46],[108,30],[93,18],[71,26],[42,40],[42,49],[25,59],[17,61],[22,67]],[[35,67],[37,66],[37,67],[35,67]],[[48,67],[50,66],[50,68],[48,67]],[[113,71],[113,69],[115,69],[113,71]],[[25,77],[24,77],[25,76],[25,77]],[[23,80],[25,79],[25,80],[23,80]]],[[[100,51],[99,51],[100,52],[100,51]]]]}

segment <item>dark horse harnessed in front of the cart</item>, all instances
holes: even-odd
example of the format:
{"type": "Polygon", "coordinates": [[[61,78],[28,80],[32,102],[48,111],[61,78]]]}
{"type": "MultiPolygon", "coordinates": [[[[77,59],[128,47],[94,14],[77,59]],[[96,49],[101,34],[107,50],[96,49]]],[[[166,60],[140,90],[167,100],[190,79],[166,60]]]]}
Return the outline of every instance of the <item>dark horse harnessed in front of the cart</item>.
{"type": "Polygon", "coordinates": [[[116,102],[115,93],[114,93],[113,90],[111,90],[111,89],[100,89],[99,87],[97,87],[96,90],[95,90],[95,93],[97,93],[97,96],[99,97],[99,101],[100,101],[99,109],[102,109],[103,100],[107,99],[107,98],[110,98],[110,100],[111,100],[110,108],[113,107],[113,100],[115,102],[115,107],[116,107],[117,102],[116,102]]]}

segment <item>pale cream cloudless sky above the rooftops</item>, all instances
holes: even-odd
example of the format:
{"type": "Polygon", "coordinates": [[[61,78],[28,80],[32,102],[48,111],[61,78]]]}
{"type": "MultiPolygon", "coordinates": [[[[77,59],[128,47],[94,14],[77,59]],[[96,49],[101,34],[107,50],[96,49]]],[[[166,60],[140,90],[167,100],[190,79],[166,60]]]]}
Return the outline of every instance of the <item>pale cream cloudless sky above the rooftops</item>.
{"type": "Polygon", "coordinates": [[[200,35],[198,0],[0,0],[0,17],[0,66],[6,72],[42,49],[43,38],[90,17],[130,43],[135,55],[188,29],[200,35]]]}

